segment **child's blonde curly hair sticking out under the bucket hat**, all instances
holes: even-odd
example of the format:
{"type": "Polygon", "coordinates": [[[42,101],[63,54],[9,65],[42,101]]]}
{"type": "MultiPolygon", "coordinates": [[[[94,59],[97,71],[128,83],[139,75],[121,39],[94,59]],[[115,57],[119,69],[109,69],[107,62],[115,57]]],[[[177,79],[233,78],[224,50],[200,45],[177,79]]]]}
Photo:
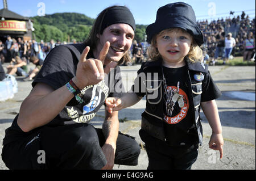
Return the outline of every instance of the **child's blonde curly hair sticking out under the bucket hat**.
{"type": "MultiPolygon", "coordinates": [[[[159,60],[159,58],[162,58],[158,49],[156,48],[156,37],[158,35],[162,35],[164,33],[172,32],[172,31],[187,32],[185,30],[182,30],[181,28],[170,28],[167,30],[163,30],[160,33],[154,35],[151,40],[151,45],[148,48],[148,57],[150,58],[150,60],[157,61],[157,60],[159,60]]],[[[190,50],[189,50],[187,56],[185,56],[185,57],[187,57],[187,59],[189,61],[191,61],[192,63],[201,61],[201,58],[203,57],[203,52],[202,52],[201,48],[199,47],[199,45],[197,45],[197,43],[194,39],[192,40],[190,50]]]]}

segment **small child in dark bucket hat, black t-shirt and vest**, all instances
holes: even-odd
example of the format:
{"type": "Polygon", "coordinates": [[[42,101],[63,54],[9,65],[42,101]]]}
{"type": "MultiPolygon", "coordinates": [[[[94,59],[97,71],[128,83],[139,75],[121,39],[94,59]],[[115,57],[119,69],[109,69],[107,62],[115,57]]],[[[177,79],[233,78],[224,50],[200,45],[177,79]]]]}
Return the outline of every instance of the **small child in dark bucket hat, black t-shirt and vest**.
{"type": "Polygon", "coordinates": [[[214,100],[221,92],[200,62],[204,39],[192,7],[183,2],[160,7],[146,33],[152,61],[142,64],[131,92],[106,99],[107,110],[132,106],[146,95],[139,134],[146,144],[147,169],[191,169],[203,140],[202,107],[212,128],[209,147],[219,150],[222,158],[224,142],[214,100]]]}

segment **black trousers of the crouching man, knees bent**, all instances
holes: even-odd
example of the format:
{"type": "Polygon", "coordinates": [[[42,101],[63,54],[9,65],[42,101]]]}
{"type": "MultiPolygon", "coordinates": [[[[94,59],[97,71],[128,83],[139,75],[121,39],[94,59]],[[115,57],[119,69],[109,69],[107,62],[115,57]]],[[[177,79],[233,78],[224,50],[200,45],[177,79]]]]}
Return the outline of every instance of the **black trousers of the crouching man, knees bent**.
{"type": "MultiPolygon", "coordinates": [[[[9,169],[101,169],[106,165],[104,143],[102,129],[90,124],[43,127],[4,145],[2,159],[9,169]]],[[[140,151],[133,137],[119,132],[115,164],[137,165],[140,151]]]]}

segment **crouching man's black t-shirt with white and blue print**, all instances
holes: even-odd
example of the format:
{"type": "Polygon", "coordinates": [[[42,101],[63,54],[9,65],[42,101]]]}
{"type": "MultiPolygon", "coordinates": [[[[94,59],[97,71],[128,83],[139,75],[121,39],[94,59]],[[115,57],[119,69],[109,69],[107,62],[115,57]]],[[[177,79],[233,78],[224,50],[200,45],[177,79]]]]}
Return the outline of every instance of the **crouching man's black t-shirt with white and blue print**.
{"type": "MultiPolygon", "coordinates": [[[[92,52],[88,53],[87,58],[89,57],[94,58],[92,52]]],[[[34,87],[36,83],[41,82],[51,86],[54,90],[59,89],[75,77],[78,61],[75,54],[67,47],[63,45],[55,47],[44,60],[42,69],[32,82],[32,86],[34,87]]],[[[65,124],[88,123],[96,115],[108,96],[122,96],[124,91],[120,68],[117,66],[110,70],[104,80],[97,85],[85,87],[81,92],[84,102],[80,104],[74,97],[47,126],[56,127],[65,124]]],[[[11,127],[6,129],[3,144],[15,141],[23,135],[22,130],[16,123],[17,118],[18,116],[15,117],[11,127]]]]}

